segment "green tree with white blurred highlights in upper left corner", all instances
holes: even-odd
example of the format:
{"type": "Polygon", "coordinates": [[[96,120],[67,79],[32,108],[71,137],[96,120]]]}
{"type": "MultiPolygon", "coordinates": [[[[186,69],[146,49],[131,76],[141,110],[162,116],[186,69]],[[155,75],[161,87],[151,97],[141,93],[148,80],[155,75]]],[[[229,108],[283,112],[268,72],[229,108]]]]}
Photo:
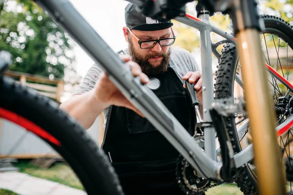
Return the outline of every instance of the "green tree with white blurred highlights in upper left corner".
{"type": "Polygon", "coordinates": [[[53,79],[74,68],[74,42],[33,1],[7,0],[0,11],[0,50],[12,54],[10,70],[53,79]]]}

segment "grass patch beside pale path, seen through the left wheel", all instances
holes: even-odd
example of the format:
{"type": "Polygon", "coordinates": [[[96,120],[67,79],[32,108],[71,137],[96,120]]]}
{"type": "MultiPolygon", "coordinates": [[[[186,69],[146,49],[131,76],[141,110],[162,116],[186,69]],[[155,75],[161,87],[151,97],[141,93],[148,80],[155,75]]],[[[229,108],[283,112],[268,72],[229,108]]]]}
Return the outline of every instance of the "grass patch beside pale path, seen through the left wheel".
{"type": "Polygon", "coordinates": [[[28,161],[20,161],[16,163],[15,166],[19,168],[21,173],[61,183],[72,188],[84,190],[82,183],[72,171],[71,167],[64,163],[56,163],[48,169],[42,169],[29,163],[28,161]]]}

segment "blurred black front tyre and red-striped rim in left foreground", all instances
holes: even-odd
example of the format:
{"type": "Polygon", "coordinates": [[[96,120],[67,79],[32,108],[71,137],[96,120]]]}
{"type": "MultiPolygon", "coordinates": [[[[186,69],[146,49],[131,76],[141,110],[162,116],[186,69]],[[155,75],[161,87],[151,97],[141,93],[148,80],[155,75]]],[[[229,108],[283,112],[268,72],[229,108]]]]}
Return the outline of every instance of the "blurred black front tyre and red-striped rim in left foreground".
{"type": "Polygon", "coordinates": [[[103,151],[56,102],[11,78],[0,78],[0,117],[48,143],[70,165],[88,195],[123,195],[118,177],[103,151]]]}

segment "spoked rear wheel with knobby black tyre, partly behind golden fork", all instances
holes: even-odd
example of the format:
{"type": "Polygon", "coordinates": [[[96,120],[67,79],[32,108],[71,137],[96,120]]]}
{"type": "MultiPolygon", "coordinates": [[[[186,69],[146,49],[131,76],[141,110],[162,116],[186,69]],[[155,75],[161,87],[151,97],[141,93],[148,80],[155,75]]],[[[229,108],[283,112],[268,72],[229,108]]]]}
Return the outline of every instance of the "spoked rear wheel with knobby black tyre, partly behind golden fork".
{"type": "MultiPolygon", "coordinates": [[[[265,22],[265,30],[260,35],[265,62],[271,66],[272,69],[277,71],[283,79],[290,82],[292,80],[290,79],[292,77],[290,69],[293,63],[293,27],[284,20],[274,16],[263,15],[261,17],[265,22]]],[[[240,85],[235,84],[235,75],[241,77],[240,73],[241,61],[239,62],[237,57],[236,47],[233,44],[228,43],[224,46],[221,58],[219,59],[218,70],[216,73],[215,98],[238,98],[237,96],[239,94],[243,94],[240,85]]],[[[268,81],[270,83],[272,94],[272,104],[276,111],[276,124],[281,125],[282,123],[291,120],[289,117],[292,113],[291,111],[286,110],[290,110],[292,105],[289,100],[285,99],[292,98],[293,92],[272,75],[268,76],[268,81]]],[[[242,117],[242,120],[239,122],[243,122],[245,119],[246,118],[242,117]]],[[[243,144],[241,146],[240,141],[245,136],[246,130],[249,130],[249,119],[246,119],[246,121],[242,123],[242,127],[244,128],[242,133],[244,133],[241,134],[241,136],[240,134],[238,136],[237,133],[236,125],[238,122],[236,122],[235,117],[226,117],[225,122],[234,153],[239,153],[242,150],[242,146],[243,148],[245,147],[243,144]]],[[[278,138],[280,152],[283,153],[283,160],[287,163],[287,180],[290,180],[291,174],[293,176],[293,161],[291,162],[291,156],[293,154],[290,154],[289,145],[292,138],[292,129],[288,128],[287,131],[278,138]]],[[[250,143],[251,142],[248,144],[250,143]]],[[[257,175],[254,169],[252,160],[246,166],[238,168],[237,170],[236,183],[245,195],[257,194],[257,175]]],[[[290,192],[293,191],[291,183],[287,185],[287,188],[290,192]]]]}

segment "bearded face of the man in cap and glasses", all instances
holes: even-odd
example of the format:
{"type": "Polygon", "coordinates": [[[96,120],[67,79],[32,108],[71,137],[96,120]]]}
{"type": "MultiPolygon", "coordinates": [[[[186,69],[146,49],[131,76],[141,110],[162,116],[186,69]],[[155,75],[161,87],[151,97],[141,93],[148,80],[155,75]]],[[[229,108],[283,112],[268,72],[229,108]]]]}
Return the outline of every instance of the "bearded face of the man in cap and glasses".
{"type": "MultiPolygon", "coordinates": [[[[132,30],[132,33],[141,41],[173,37],[170,28],[158,31],[132,30]]],[[[141,49],[138,40],[130,32],[127,37],[129,55],[133,61],[141,66],[145,74],[158,75],[167,71],[170,61],[170,46],[162,47],[157,43],[150,49],[141,49]]]]}

